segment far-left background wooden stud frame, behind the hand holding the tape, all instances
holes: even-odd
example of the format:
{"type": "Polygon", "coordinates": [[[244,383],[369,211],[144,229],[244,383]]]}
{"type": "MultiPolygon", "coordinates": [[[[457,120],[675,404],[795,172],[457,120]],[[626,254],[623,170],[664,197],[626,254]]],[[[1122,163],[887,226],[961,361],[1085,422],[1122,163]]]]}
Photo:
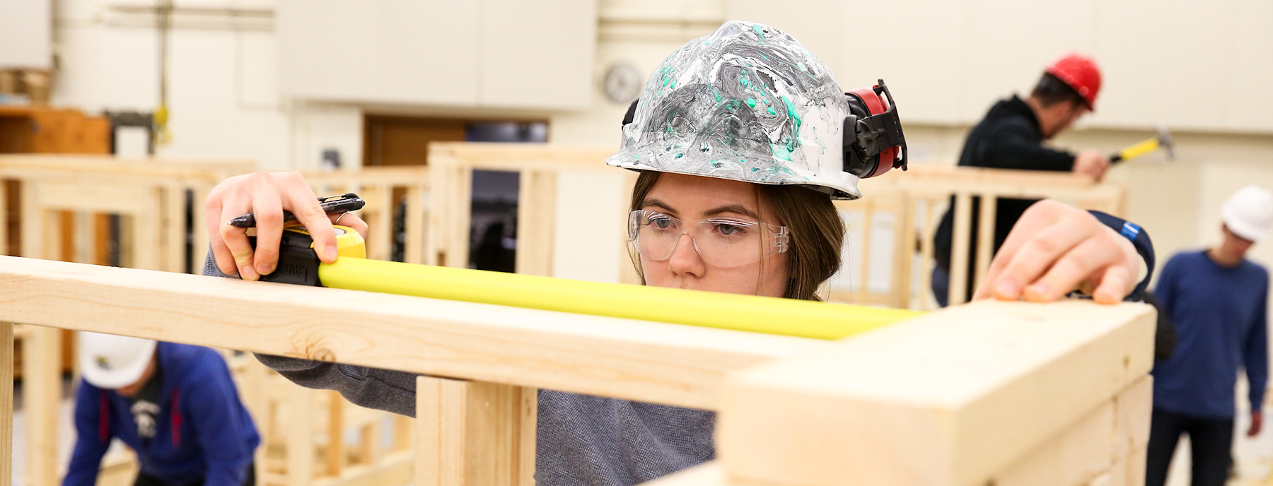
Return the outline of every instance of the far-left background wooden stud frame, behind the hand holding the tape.
{"type": "MultiPolygon", "coordinates": [[[[130,220],[121,248],[129,256],[123,266],[165,271],[185,271],[186,258],[199,270],[207,252],[207,235],[202,230],[202,201],[207,191],[230,176],[253,170],[255,163],[238,160],[0,155],[0,178],[19,181],[23,187],[22,256],[104,263],[95,261],[93,252],[85,248],[93,244],[92,218],[94,214],[118,214],[130,220]],[[195,193],[190,256],[185,254],[185,191],[195,193]],[[75,223],[61,224],[57,218],[66,218],[64,215],[75,223]],[[67,230],[75,235],[65,234],[67,230]],[[65,248],[67,244],[74,248],[65,248]]],[[[358,192],[367,200],[367,207],[359,214],[374,232],[368,235],[372,258],[390,260],[396,202],[406,202],[405,261],[424,261],[428,169],[386,167],[309,172],[304,177],[320,195],[358,192]]],[[[5,228],[0,224],[0,242],[6,238],[5,228]]]]}

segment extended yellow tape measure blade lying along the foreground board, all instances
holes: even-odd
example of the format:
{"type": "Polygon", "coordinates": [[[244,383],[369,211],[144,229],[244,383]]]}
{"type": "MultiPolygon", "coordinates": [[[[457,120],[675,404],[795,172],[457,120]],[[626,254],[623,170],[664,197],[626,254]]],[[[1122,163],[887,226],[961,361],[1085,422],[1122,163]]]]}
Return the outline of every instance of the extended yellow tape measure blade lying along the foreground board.
{"type": "Polygon", "coordinates": [[[812,300],[601,284],[533,275],[340,258],[318,267],[323,286],[838,340],[919,312],[812,300]]]}

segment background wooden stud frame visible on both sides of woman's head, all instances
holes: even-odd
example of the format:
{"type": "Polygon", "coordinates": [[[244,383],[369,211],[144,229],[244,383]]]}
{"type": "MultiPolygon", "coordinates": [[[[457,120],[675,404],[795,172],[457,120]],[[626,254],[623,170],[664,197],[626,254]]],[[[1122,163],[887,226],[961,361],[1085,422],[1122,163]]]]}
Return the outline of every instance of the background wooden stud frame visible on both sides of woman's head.
{"type": "MultiPolygon", "coordinates": [[[[563,170],[616,170],[605,165],[611,154],[602,149],[580,149],[546,144],[472,144],[435,142],[429,145],[432,168],[429,265],[465,267],[468,260],[468,200],[474,169],[512,170],[522,174],[518,219],[518,274],[551,276],[552,234],[556,223],[556,184],[554,176],[563,170]]],[[[626,172],[629,181],[635,173],[626,172]]],[[[1118,183],[1096,183],[1090,177],[1069,173],[1035,170],[1001,170],[966,167],[915,165],[905,173],[861,182],[866,197],[836,201],[845,214],[861,215],[861,225],[849,228],[848,242],[862,242],[861,251],[850,252],[844,262],[847,286],[829,289],[829,300],[896,308],[932,308],[929,274],[933,267],[933,233],[948,198],[955,198],[955,238],[950,300],[961,303],[966,293],[966,275],[979,281],[989,268],[994,233],[997,197],[1055,198],[1083,209],[1123,215],[1127,206],[1125,187],[1118,183]],[[978,228],[971,226],[974,197],[989,201],[980,205],[978,228]],[[892,232],[877,230],[876,220],[892,219],[892,232]],[[978,234],[976,267],[969,267],[971,235],[978,234]],[[872,258],[875,238],[887,238],[885,247],[891,257],[881,262],[872,258]],[[917,266],[915,256],[919,256],[917,266]],[[871,268],[886,265],[889,284],[883,290],[872,289],[871,268]],[[918,274],[918,275],[917,275],[918,274]],[[918,288],[917,288],[918,284],[918,288]]],[[[625,184],[631,190],[631,183],[625,184]]],[[[626,207],[630,192],[616,195],[616,204],[626,207]]],[[[608,204],[610,201],[598,201],[608,204]]],[[[619,218],[620,212],[616,212],[619,218]]],[[[626,247],[621,252],[624,282],[638,282],[631,271],[626,247]]]]}

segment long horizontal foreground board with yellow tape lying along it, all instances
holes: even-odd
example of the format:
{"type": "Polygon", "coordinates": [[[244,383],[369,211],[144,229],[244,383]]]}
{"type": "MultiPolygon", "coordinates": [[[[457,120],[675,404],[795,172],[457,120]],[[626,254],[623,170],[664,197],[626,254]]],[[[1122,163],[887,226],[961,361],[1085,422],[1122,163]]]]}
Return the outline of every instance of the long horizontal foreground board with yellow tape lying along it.
{"type": "Polygon", "coordinates": [[[0,286],[6,321],[698,408],[717,406],[731,371],[835,346],[17,257],[0,257],[0,286]]]}

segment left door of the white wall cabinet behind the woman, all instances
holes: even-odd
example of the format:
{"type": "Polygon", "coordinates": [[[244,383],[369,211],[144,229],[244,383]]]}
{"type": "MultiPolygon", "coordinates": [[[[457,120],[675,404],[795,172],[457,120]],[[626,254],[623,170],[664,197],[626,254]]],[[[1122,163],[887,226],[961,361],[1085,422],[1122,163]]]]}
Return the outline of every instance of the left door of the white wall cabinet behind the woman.
{"type": "Polygon", "coordinates": [[[280,0],[280,88],[295,98],[475,106],[480,6],[280,0]]]}

